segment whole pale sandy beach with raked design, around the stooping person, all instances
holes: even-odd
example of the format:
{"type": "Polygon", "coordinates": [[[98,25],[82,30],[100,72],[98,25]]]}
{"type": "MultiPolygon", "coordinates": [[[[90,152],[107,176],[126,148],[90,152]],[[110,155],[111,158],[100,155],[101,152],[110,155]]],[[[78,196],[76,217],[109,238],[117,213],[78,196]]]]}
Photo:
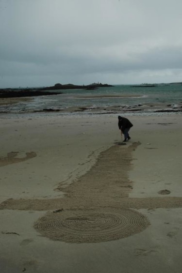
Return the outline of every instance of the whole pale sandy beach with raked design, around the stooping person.
{"type": "Polygon", "coordinates": [[[181,273],[181,113],[129,119],[0,116],[0,273],[181,273]]]}

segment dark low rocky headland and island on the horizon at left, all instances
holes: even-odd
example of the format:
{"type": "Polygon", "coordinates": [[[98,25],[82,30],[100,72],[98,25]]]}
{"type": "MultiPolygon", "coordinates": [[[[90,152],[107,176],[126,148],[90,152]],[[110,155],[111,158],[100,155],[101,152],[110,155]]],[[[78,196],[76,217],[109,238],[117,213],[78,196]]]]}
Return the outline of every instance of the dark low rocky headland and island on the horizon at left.
{"type": "Polygon", "coordinates": [[[63,92],[49,92],[49,90],[66,90],[66,89],[84,89],[95,90],[100,87],[112,87],[109,84],[92,83],[89,85],[74,85],[56,83],[54,86],[40,87],[40,88],[4,88],[0,89],[0,98],[16,98],[16,97],[33,97],[33,96],[47,96],[58,95],[63,92]]]}

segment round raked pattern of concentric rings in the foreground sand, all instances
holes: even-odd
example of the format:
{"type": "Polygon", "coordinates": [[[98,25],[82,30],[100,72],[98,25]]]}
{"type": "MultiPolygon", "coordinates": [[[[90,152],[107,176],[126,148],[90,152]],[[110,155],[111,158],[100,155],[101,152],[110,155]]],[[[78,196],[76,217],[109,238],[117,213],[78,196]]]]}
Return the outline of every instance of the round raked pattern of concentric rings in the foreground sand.
{"type": "Polygon", "coordinates": [[[117,208],[48,212],[34,225],[42,235],[70,243],[117,240],[148,226],[148,220],[139,212],[117,208]]]}

